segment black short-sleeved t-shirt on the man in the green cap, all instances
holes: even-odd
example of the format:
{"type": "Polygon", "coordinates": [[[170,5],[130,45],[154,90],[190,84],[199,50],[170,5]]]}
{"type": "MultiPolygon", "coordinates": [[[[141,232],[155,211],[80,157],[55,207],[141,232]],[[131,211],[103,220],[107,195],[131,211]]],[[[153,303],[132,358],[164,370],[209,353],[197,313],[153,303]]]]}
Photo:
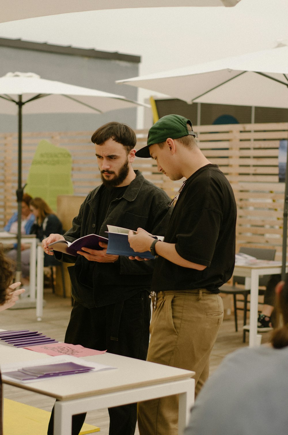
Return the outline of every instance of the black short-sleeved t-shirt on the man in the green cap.
{"type": "Polygon", "coordinates": [[[236,213],[232,188],[217,165],[192,174],[178,197],[164,241],[175,243],[185,260],[207,267],[184,268],[159,256],[151,290],[205,288],[218,293],[234,269],[236,213]]]}

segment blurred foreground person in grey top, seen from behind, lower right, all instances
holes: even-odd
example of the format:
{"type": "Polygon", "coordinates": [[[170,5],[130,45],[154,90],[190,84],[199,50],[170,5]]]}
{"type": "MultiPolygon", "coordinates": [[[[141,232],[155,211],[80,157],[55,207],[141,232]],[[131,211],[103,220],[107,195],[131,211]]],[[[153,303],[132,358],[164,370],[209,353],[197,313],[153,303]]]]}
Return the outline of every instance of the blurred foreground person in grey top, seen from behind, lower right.
{"type": "Polygon", "coordinates": [[[224,358],[198,395],[185,435],[287,434],[287,276],[275,287],[275,301],[270,343],[224,358]]]}

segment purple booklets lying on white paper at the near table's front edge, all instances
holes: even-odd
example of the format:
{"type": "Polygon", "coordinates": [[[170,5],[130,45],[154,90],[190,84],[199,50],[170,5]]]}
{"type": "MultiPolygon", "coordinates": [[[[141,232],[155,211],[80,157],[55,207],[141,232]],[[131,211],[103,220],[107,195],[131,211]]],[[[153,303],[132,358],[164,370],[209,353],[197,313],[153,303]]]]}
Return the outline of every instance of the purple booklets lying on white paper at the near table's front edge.
{"type": "Polygon", "coordinates": [[[29,381],[32,379],[52,378],[54,376],[74,375],[75,373],[86,373],[94,367],[76,364],[74,362],[60,362],[56,364],[35,365],[19,368],[16,371],[6,371],[5,375],[10,378],[29,381]]]}

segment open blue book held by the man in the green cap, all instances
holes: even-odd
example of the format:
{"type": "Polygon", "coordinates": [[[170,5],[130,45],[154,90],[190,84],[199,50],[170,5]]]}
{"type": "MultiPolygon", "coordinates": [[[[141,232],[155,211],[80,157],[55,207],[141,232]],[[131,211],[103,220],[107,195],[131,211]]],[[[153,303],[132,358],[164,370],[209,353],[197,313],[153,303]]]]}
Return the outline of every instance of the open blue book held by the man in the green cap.
{"type": "MultiPolygon", "coordinates": [[[[128,241],[128,228],[114,227],[114,225],[107,225],[108,228],[108,247],[107,254],[123,255],[124,257],[140,257],[154,259],[154,255],[150,251],[135,252],[128,241]]],[[[132,230],[133,231],[133,230],[132,230]]],[[[133,231],[136,234],[136,231],[133,231]]],[[[152,236],[151,238],[163,241],[164,236],[152,236]]],[[[151,240],[152,243],[152,240],[151,240]]]]}

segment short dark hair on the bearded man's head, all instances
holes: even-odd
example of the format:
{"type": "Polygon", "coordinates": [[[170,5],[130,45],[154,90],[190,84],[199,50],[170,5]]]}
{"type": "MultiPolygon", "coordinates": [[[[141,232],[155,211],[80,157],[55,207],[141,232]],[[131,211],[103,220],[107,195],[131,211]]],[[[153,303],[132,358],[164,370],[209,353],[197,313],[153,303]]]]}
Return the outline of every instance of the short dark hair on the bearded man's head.
{"type": "Polygon", "coordinates": [[[97,128],[92,134],[91,141],[93,144],[102,145],[108,139],[122,144],[127,151],[132,150],[136,145],[136,134],[127,124],[121,122],[108,122],[97,128]]]}

